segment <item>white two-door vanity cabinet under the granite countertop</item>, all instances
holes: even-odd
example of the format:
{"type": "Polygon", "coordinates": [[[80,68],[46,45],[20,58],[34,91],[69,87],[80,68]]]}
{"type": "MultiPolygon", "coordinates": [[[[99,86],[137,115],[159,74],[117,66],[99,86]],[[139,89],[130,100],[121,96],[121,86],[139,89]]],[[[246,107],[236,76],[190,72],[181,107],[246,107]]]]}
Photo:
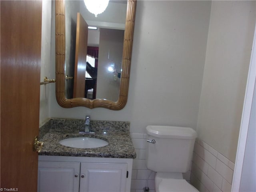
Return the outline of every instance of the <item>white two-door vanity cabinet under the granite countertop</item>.
{"type": "Polygon", "coordinates": [[[39,156],[38,192],[130,192],[132,159],[39,156]]]}

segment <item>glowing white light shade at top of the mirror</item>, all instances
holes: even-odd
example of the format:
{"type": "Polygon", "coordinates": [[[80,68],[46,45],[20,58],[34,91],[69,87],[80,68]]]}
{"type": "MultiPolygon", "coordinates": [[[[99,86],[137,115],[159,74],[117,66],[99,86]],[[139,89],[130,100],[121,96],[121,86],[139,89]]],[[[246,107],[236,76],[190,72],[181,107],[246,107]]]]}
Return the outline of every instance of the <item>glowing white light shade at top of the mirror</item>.
{"type": "Polygon", "coordinates": [[[89,12],[97,17],[98,14],[103,13],[107,6],[109,0],[84,0],[84,4],[89,12]]]}

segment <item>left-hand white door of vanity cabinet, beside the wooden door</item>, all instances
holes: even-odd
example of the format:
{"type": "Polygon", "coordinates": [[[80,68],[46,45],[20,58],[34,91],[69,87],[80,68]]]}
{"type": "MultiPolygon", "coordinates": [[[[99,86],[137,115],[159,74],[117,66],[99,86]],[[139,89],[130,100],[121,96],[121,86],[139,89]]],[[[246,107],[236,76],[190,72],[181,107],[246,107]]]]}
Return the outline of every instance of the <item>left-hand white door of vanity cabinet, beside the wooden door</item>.
{"type": "Polygon", "coordinates": [[[80,163],[38,162],[38,192],[78,192],[80,163]]]}

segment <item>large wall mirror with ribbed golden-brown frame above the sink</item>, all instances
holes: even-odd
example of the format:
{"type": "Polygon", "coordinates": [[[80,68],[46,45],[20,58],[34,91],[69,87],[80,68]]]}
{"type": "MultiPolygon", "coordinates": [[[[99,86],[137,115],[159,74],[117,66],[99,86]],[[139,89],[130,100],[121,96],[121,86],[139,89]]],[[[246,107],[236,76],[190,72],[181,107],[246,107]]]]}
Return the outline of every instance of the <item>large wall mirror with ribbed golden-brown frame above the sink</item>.
{"type": "Polygon", "coordinates": [[[125,3],[123,0],[110,1],[105,12],[114,13],[114,9],[119,14],[125,9],[126,14],[104,16],[102,13],[95,18],[91,13],[90,16],[86,15],[83,1],[56,1],[56,99],[60,106],[104,107],[111,110],[124,108],[128,95],[136,0],[128,0],[125,3]],[[65,11],[65,3],[69,10],[65,11]],[[113,8],[112,4],[117,4],[118,8],[113,8]],[[86,45],[80,40],[80,33],[84,32],[78,33],[78,13],[88,26],[98,26],[96,33],[99,35],[93,36],[92,40],[89,38],[92,30],[88,30],[86,45]],[[65,21],[65,16],[70,19],[65,21]],[[104,20],[95,20],[100,17],[104,20]],[[125,24],[120,22],[122,17],[125,18],[125,24]],[[107,21],[108,18],[114,20],[107,21]],[[80,45],[84,45],[83,49],[87,51],[80,51],[80,45]],[[75,96],[76,89],[80,89],[79,83],[75,82],[77,68],[81,62],[82,68],[87,71],[83,77],[85,86],[83,85],[81,90],[82,95],[87,98],[75,96]],[[74,80],[65,80],[65,76],[74,76],[74,80]]]}

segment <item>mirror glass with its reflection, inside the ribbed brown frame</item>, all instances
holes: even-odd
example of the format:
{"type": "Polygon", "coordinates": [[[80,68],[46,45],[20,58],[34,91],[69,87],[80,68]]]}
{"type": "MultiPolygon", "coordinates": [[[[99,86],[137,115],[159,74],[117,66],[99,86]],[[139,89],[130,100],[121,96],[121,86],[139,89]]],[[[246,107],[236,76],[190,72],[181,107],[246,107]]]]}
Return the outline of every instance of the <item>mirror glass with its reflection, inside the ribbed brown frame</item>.
{"type": "Polygon", "coordinates": [[[65,73],[74,76],[66,80],[66,98],[118,100],[126,10],[127,1],[110,1],[95,17],[84,1],[65,1],[65,73]],[[81,27],[88,24],[96,30],[81,27]],[[85,34],[87,40],[82,38],[85,34]]]}

